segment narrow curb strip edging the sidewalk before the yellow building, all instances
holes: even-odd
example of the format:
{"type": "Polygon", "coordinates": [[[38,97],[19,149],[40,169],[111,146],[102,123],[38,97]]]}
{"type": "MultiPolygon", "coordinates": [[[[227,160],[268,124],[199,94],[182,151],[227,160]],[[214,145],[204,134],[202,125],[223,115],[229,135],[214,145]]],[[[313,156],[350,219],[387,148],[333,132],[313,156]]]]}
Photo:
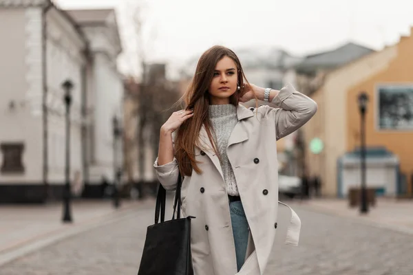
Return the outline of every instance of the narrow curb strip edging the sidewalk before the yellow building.
{"type": "Polygon", "coordinates": [[[372,221],[368,218],[366,219],[366,218],[361,217],[361,216],[360,217],[352,217],[352,216],[348,216],[347,214],[340,214],[338,212],[327,210],[323,206],[314,206],[314,205],[310,205],[310,204],[299,204],[299,203],[297,203],[297,208],[301,208],[302,210],[307,210],[307,211],[310,211],[310,212],[317,212],[317,213],[321,213],[321,214],[327,214],[328,216],[332,216],[332,217],[341,217],[341,218],[350,219],[350,220],[352,220],[356,223],[360,223],[360,224],[363,224],[363,225],[370,225],[374,228],[392,230],[394,232],[413,235],[413,228],[405,228],[403,226],[388,225],[388,224],[385,224],[385,223],[372,221]]]}

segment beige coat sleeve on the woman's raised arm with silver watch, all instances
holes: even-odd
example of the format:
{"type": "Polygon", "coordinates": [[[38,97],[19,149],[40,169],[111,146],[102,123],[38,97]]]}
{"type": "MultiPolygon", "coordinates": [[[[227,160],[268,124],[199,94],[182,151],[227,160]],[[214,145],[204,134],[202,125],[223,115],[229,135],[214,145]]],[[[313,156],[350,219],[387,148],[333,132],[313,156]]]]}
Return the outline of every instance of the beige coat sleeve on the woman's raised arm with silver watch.
{"type": "Polygon", "coordinates": [[[290,84],[282,88],[271,103],[276,108],[266,106],[266,111],[275,120],[277,140],[306,124],[318,109],[314,100],[296,91],[290,84]]]}

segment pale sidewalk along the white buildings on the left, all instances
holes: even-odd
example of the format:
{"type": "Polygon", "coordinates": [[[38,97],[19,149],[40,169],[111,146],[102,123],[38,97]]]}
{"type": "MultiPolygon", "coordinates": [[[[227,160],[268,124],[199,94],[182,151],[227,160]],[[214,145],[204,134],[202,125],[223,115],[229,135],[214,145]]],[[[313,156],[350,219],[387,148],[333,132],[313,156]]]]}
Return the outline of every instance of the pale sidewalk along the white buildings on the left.
{"type": "Polygon", "coordinates": [[[90,228],[153,208],[154,199],[72,201],[72,223],[63,223],[63,204],[0,205],[0,265],[90,228]]]}

